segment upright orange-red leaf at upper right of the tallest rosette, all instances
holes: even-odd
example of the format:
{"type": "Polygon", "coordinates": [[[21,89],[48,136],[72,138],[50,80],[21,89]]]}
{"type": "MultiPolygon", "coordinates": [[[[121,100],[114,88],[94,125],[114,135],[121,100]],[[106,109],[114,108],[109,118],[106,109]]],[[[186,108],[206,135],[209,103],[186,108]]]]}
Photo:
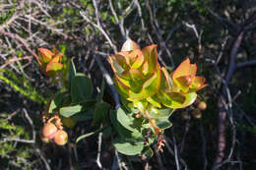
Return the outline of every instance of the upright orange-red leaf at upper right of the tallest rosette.
{"type": "Polygon", "coordinates": [[[154,73],[159,67],[157,46],[153,44],[142,49],[144,60],[148,61],[148,73],[154,73]]]}

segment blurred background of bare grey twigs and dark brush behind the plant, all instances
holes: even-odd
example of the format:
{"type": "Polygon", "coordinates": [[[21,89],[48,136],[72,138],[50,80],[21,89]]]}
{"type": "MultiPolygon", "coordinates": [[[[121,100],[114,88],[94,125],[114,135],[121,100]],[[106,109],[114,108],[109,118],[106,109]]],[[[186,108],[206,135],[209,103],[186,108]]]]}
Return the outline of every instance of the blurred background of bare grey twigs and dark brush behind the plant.
{"type": "MultiPolygon", "coordinates": [[[[101,145],[104,169],[254,169],[256,165],[256,2],[254,0],[0,0],[0,169],[100,169],[92,127],[69,131],[65,146],[40,142],[41,111],[59,85],[35,60],[55,45],[100,88],[107,56],[126,38],[156,43],[173,70],[189,57],[208,86],[172,116],[162,153],[145,160],[101,145]],[[96,57],[103,65],[98,65],[96,57]],[[143,162],[143,163],[141,163],[143,162]]],[[[113,103],[106,86],[104,100],[113,103]]],[[[104,137],[102,137],[104,138],[104,137]]]]}

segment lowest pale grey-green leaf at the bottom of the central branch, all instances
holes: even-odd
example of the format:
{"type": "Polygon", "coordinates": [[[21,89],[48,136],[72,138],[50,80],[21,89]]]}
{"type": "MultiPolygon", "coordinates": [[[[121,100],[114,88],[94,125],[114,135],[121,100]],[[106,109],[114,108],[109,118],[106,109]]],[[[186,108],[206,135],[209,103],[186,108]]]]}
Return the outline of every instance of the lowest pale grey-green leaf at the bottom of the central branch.
{"type": "Polygon", "coordinates": [[[144,142],[127,142],[121,138],[114,139],[113,144],[120,153],[126,155],[140,154],[144,146],[144,142]]]}

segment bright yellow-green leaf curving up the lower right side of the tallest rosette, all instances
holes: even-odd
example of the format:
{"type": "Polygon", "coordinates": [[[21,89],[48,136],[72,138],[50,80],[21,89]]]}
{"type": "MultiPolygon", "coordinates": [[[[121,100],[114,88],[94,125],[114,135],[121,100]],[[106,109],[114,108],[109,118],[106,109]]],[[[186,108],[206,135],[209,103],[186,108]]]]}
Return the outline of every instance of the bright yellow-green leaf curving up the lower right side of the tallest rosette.
{"type": "Polygon", "coordinates": [[[145,99],[149,96],[152,96],[158,92],[160,88],[160,69],[157,70],[152,78],[150,78],[146,83],[143,85],[143,88],[139,92],[129,91],[129,98],[128,100],[141,100],[145,99]]]}

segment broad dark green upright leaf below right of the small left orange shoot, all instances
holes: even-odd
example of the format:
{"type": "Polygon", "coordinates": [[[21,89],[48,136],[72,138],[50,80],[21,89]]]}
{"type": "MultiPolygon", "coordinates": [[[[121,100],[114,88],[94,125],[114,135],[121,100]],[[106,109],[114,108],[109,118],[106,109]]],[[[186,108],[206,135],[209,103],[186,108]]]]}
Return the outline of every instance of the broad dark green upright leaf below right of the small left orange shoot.
{"type": "Polygon", "coordinates": [[[71,96],[73,102],[87,101],[93,94],[92,81],[84,74],[76,74],[71,81],[71,96]]]}

